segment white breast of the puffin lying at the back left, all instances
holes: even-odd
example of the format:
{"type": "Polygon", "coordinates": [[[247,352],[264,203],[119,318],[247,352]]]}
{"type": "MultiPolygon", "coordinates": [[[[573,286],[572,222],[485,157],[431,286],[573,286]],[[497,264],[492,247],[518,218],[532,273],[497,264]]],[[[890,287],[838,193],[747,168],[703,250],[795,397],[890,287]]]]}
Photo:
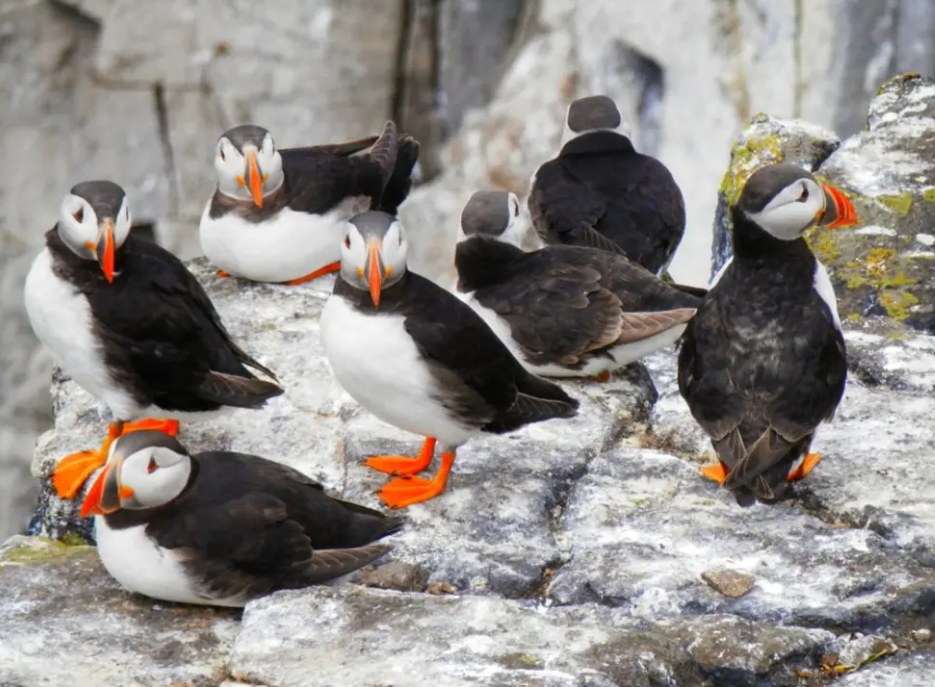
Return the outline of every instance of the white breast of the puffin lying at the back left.
{"type": "Polygon", "coordinates": [[[228,274],[252,281],[287,282],[341,259],[345,222],[370,207],[370,199],[348,198],[324,215],[288,207],[259,223],[228,213],[217,219],[211,201],[201,215],[201,249],[228,274]]]}

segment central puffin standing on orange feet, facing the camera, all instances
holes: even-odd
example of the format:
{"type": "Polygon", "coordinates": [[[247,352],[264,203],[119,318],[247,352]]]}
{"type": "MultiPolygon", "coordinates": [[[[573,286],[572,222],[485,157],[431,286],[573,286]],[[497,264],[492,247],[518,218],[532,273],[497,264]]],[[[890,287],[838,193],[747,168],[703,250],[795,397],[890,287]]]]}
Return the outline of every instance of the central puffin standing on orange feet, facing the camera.
{"type": "Polygon", "coordinates": [[[425,437],[418,456],[364,465],[398,476],[379,492],[391,508],[445,490],[459,446],[534,422],[570,418],[578,401],[526,370],[483,319],[453,293],[406,267],[399,220],[352,218],[341,270],[321,314],[321,342],[338,383],[384,422],[425,437]],[[430,479],[436,442],[441,465],[430,479]]]}

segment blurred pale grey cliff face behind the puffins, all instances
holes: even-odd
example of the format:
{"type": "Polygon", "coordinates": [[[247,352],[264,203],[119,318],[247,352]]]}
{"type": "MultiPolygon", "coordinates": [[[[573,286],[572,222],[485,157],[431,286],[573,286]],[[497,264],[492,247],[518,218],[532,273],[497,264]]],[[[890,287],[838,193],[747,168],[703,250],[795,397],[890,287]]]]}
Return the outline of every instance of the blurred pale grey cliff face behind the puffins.
{"type": "Polygon", "coordinates": [[[15,170],[0,178],[0,536],[34,503],[25,465],[50,422],[22,282],[77,181],[121,183],[135,218],[190,257],[223,129],[256,121],[289,146],[394,117],[423,142],[431,183],[404,219],[430,271],[466,197],[524,196],[568,101],[602,91],[681,184],[673,272],[703,283],[727,151],[751,115],[855,133],[885,78],[935,68],[933,30],[928,0],[0,0],[0,156],[15,170]]]}

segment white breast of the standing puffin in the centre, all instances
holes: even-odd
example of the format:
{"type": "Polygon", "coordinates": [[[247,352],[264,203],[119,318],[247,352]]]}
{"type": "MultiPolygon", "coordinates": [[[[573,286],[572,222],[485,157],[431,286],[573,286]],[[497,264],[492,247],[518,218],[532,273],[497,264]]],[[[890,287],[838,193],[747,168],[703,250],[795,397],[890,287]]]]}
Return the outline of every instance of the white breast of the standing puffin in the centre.
{"type": "Polygon", "coordinates": [[[321,314],[321,342],[338,383],[384,422],[452,447],[478,434],[435,400],[438,382],[402,315],[364,314],[332,295],[321,314]]]}

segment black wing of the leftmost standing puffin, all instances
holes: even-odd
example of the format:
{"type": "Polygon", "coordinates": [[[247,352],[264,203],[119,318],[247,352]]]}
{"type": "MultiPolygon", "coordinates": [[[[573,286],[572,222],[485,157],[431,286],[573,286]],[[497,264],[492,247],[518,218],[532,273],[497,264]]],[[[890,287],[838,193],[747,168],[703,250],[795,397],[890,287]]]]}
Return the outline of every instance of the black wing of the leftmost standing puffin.
{"type": "Polygon", "coordinates": [[[178,258],[131,234],[118,266],[112,285],[86,295],[108,366],[125,377],[139,400],[167,410],[203,411],[219,405],[259,407],[282,393],[247,369],[275,379],[234,343],[201,284],[178,258]]]}

